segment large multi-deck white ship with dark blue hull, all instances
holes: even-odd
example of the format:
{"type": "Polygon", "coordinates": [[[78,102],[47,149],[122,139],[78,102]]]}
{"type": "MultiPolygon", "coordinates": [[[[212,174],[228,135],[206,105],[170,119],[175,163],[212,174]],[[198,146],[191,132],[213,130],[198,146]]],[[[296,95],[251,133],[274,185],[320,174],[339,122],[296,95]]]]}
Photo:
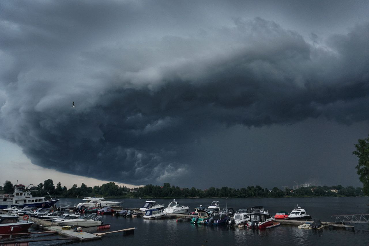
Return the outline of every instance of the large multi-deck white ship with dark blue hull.
{"type": "Polygon", "coordinates": [[[20,206],[32,206],[37,208],[49,208],[59,199],[51,199],[45,201],[45,197],[32,197],[30,191],[23,191],[23,189],[14,189],[13,194],[0,194],[0,209],[10,208],[17,205],[20,206]]]}

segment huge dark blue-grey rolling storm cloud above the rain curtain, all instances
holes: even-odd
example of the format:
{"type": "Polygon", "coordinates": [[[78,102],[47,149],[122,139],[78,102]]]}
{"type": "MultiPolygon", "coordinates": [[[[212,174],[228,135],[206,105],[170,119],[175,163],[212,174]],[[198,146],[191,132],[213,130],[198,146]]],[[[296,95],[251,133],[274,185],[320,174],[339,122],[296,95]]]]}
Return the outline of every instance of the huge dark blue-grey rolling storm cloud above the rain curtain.
{"type": "Polygon", "coordinates": [[[1,3],[1,137],[36,165],[140,185],[189,176],[193,146],[230,126],[368,120],[368,23],[307,39],[195,4],[1,3]]]}

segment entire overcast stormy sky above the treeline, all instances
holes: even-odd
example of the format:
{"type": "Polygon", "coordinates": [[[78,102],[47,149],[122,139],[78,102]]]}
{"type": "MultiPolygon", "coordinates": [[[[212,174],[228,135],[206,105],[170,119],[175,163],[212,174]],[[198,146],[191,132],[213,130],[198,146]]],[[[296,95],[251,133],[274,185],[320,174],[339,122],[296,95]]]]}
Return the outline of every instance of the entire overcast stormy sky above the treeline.
{"type": "Polygon", "coordinates": [[[1,1],[0,182],[359,186],[368,18],[368,1],[1,1]]]}

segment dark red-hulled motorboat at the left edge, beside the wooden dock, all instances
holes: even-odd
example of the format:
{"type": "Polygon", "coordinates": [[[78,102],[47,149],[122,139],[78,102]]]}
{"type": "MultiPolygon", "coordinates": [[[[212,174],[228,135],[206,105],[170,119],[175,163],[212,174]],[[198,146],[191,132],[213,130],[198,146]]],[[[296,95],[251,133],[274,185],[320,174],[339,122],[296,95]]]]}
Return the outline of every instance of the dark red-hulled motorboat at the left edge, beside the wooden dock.
{"type": "Polygon", "coordinates": [[[16,215],[0,215],[0,234],[18,233],[27,231],[34,222],[19,221],[16,215]]]}

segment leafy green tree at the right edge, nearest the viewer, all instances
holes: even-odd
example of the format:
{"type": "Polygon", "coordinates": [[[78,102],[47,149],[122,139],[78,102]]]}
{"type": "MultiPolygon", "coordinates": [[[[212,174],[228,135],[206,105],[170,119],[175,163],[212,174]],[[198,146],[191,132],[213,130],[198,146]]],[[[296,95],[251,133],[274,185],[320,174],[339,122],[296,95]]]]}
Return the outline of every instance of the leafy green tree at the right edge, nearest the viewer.
{"type": "Polygon", "coordinates": [[[369,196],[369,137],[359,139],[358,142],[355,144],[356,150],[352,154],[359,158],[356,166],[357,173],[360,175],[360,182],[363,183],[364,194],[369,196]]]}

